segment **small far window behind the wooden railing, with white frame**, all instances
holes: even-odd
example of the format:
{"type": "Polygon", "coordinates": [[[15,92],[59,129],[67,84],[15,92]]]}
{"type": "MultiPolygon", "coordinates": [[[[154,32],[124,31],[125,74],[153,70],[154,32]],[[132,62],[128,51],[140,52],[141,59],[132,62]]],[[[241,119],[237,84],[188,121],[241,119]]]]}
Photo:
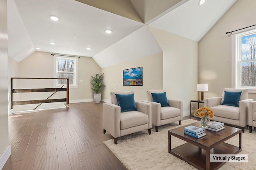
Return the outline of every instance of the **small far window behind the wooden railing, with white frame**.
{"type": "MultiPolygon", "coordinates": [[[[69,78],[70,87],[78,87],[78,59],[73,57],[55,57],[54,56],[54,77],[69,78]]],[[[55,86],[66,85],[66,80],[56,80],[55,86]]]]}

